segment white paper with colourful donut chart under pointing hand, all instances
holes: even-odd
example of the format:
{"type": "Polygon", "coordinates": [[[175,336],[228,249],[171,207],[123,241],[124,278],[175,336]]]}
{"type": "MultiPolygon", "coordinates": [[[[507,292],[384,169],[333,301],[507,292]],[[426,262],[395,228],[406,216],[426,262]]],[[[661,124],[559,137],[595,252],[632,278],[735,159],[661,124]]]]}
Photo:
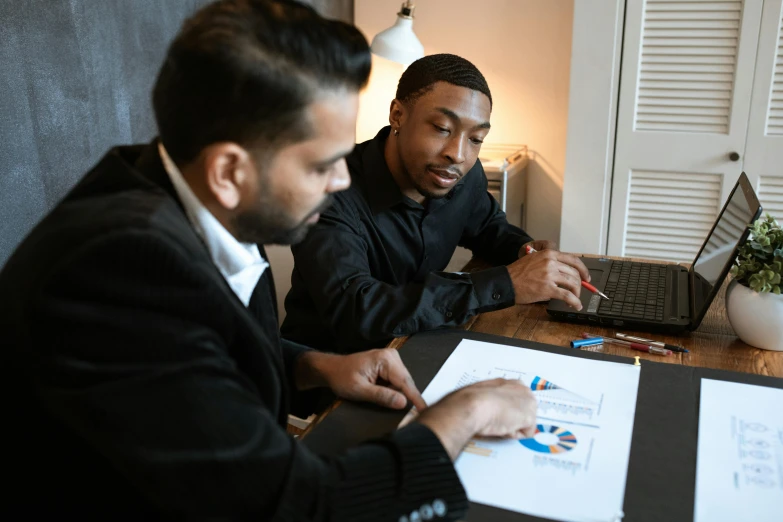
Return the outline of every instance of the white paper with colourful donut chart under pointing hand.
{"type": "Polygon", "coordinates": [[[517,379],[538,399],[533,438],[471,441],[456,462],[473,502],[561,521],[622,517],[638,366],[463,340],[424,391],[517,379]]]}

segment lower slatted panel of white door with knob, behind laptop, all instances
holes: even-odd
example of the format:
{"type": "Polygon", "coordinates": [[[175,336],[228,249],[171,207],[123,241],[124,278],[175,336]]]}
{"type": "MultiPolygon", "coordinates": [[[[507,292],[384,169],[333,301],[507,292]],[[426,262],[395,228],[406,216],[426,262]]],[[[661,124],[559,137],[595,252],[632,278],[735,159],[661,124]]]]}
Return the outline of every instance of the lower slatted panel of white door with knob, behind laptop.
{"type": "Polygon", "coordinates": [[[631,172],[625,255],[693,261],[718,213],[715,174],[631,172]]]}

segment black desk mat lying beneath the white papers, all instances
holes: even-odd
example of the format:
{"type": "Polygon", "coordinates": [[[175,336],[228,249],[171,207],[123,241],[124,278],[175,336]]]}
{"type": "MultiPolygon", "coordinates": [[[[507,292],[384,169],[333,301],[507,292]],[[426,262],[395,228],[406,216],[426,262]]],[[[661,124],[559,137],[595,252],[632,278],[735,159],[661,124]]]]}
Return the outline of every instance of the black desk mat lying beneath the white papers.
{"type": "MultiPolygon", "coordinates": [[[[583,352],[549,344],[439,330],[414,335],[400,356],[424,390],[462,339],[519,346],[569,357],[633,364],[633,359],[583,352]]],[[[627,522],[690,522],[696,487],[699,392],[702,378],[783,389],[783,379],[643,360],[636,400],[631,455],[623,511],[627,522]]],[[[783,407],[783,406],[781,406],[783,407]]],[[[337,455],[397,428],[404,412],[345,402],[316,426],[303,442],[310,449],[337,455]]],[[[467,521],[529,522],[547,520],[472,503],[467,521]]]]}

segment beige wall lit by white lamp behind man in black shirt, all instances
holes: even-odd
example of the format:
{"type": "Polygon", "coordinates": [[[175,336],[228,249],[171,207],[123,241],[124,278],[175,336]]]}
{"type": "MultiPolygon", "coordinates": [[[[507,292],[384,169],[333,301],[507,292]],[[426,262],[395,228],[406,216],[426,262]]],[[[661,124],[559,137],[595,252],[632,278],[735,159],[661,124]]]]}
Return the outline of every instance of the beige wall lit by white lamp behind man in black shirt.
{"type": "MultiPolygon", "coordinates": [[[[399,0],[355,0],[354,23],[369,40],[394,23],[399,0]]],[[[486,76],[494,107],[487,143],[526,144],[527,231],[559,239],[568,123],[573,0],[420,0],[414,30],[426,54],[453,53],[486,76]]],[[[357,140],[388,122],[402,66],[374,59],[357,140]]]]}

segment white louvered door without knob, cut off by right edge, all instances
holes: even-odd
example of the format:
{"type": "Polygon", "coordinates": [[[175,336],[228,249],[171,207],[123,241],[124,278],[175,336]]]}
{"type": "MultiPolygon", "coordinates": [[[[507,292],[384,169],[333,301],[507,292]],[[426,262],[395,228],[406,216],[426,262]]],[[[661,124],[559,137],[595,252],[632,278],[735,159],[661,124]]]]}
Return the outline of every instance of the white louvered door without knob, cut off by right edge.
{"type": "Polygon", "coordinates": [[[766,0],[753,81],[745,171],[766,211],[783,223],[783,10],[766,0]]]}

